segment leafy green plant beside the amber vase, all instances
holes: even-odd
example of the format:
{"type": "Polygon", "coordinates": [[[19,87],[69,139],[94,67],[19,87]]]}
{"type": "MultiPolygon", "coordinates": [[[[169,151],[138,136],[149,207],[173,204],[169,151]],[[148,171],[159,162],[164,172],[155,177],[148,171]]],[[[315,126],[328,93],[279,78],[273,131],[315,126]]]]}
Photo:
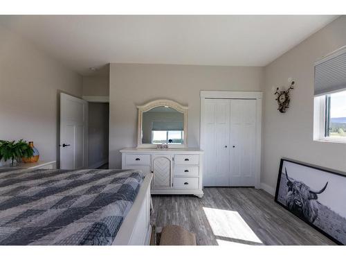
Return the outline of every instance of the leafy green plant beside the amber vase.
{"type": "Polygon", "coordinates": [[[6,162],[8,159],[11,159],[12,166],[16,166],[17,161],[21,157],[33,157],[33,153],[33,148],[23,139],[19,141],[0,140],[0,160],[3,159],[6,162]]]}

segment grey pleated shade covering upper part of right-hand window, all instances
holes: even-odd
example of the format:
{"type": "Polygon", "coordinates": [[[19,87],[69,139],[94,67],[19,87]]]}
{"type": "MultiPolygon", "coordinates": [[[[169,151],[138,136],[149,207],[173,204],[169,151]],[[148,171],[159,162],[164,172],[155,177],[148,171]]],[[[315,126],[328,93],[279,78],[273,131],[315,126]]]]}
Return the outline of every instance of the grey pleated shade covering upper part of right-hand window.
{"type": "Polygon", "coordinates": [[[346,89],[346,46],[315,62],[315,96],[346,89]]]}

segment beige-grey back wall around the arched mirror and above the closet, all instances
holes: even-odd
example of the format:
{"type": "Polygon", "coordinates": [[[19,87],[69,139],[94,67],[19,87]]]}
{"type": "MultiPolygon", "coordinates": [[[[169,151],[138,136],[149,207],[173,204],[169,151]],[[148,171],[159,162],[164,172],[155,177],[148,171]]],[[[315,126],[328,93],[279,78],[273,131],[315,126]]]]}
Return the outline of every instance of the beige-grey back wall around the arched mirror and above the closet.
{"type": "Polygon", "coordinates": [[[109,166],[120,168],[119,150],[137,141],[137,108],[167,98],[188,105],[188,146],[199,147],[201,90],[261,91],[262,67],[111,64],[109,166]]]}

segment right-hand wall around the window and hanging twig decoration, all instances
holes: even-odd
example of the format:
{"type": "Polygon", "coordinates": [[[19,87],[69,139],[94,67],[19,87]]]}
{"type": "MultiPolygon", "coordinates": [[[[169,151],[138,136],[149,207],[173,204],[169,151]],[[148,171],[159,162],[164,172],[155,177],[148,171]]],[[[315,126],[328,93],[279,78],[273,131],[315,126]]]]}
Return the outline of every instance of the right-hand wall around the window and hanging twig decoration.
{"type": "Polygon", "coordinates": [[[276,186],[280,157],[346,172],[346,145],[313,141],[313,62],[346,45],[346,17],[340,17],[265,67],[261,181],[276,186]],[[273,86],[296,87],[286,114],[277,111],[273,86]]]}

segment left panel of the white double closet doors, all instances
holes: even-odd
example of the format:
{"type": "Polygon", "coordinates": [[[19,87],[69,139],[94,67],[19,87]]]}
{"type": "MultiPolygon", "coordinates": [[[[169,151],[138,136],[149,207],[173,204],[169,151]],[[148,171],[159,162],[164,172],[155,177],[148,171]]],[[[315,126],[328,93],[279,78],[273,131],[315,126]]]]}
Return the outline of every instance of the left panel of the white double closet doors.
{"type": "Polygon", "coordinates": [[[204,186],[229,186],[230,100],[206,99],[204,106],[204,186]]]}

